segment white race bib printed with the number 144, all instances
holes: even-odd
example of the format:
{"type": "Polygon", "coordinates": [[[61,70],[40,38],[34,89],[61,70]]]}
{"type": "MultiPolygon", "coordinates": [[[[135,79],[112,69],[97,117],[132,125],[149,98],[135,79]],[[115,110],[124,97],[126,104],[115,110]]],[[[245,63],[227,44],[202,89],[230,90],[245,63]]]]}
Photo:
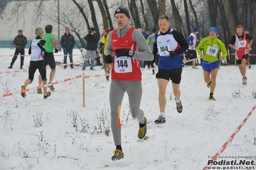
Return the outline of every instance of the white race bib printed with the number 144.
{"type": "Polygon", "coordinates": [[[132,60],[130,57],[115,57],[115,72],[116,73],[129,73],[132,72],[132,60]]]}

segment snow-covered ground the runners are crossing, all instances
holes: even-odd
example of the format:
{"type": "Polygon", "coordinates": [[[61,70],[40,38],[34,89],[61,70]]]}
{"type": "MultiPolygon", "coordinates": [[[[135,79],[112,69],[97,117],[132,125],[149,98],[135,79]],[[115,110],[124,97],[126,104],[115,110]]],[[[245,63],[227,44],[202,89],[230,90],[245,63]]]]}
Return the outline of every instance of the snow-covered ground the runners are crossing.
{"type": "MultiPolygon", "coordinates": [[[[103,76],[101,66],[85,79],[85,107],[81,78],[64,81],[81,75],[81,66],[66,70],[56,66],[55,91],[46,100],[37,94],[38,71],[27,87],[27,97],[19,91],[28,72],[19,70],[20,59],[8,69],[14,49],[0,49],[0,169],[175,169],[195,170],[207,166],[250,111],[256,99],[256,66],[247,69],[248,84],[243,86],[237,66],[221,66],[214,93],[216,101],[208,99],[210,89],[203,81],[201,66],[194,70],[186,66],[180,89],[183,112],[176,111],[171,83],[167,86],[166,124],[155,125],[158,117],[158,86],[151,70],[142,71],[143,95],[141,109],[148,118],[146,138],[138,139],[139,122],[129,111],[128,97],[121,107],[124,158],[112,161],[115,150],[110,129],[108,102],[110,81],[103,76]],[[15,72],[15,70],[19,70],[15,72]],[[10,71],[7,72],[6,71],[10,71]],[[99,75],[94,77],[95,75],[99,75]],[[3,97],[6,93],[13,93],[3,97]],[[41,121],[41,122],[40,122],[41,121]],[[42,124],[42,125],[40,125],[42,124]]],[[[26,49],[28,54],[28,49],[26,49]]],[[[58,52],[56,61],[62,61],[58,52]]],[[[74,61],[81,61],[75,50],[74,61]]],[[[68,59],[69,62],[69,59],[68,59]]],[[[23,68],[28,68],[30,57],[25,57],[23,68]]],[[[47,69],[49,79],[49,69],[47,69]]],[[[49,88],[48,88],[49,89],[49,88]]],[[[235,135],[232,143],[220,152],[216,161],[220,169],[256,169],[256,115],[235,135]],[[223,158],[221,158],[223,157],[223,158]],[[221,162],[237,160],[235,165],[221,166],[221,162]],[[245,160],[247,165],[239,163],[245,160]],[[250,164],[250,165],[249,165],[250,164]]],[[[216,164],[216,163],[214,163],[216,164]]],[[[223,163],[224,164],[224,163],[223,163]]]]}

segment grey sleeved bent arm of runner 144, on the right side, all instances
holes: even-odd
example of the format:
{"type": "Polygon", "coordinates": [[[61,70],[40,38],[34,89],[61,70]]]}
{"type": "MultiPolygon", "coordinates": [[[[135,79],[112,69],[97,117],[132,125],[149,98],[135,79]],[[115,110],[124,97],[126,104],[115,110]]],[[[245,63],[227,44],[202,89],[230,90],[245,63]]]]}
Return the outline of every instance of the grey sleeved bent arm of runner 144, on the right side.
{"type": "Polygon", "coordinates": [[[133,58],[144,60],[144,61],[153,61],[154,55],[149,48],[148,43],[146,42],[145,38],[141,34],[141,32],[137,29],[134,29],[132,32],[132,40],[133,42],[137,43],[137,46],[141,51],[135,51],[133,54],[133,58]]]}

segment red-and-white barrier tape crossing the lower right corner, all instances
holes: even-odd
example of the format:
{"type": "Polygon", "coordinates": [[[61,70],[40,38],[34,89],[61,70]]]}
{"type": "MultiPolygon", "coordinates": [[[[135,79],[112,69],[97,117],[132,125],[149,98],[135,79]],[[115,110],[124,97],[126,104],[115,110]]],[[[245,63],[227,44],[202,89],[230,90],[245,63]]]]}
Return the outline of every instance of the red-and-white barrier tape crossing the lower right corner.
{"type": "MultiPolygon", "coordinates": [[[[243,125],[246,123],[246,121],[250,118],[250,116],[252,115],[252,112],[255,110],[255,107],[256,107],[256,104],[253,106],[252,110],[247,114],[246,118],[244,118],[242,123],[235,129],[235,132],[232,135],[230,135],[228,140],[223,144],[223,146],[221,146],[219,151],[214,155],[214,157],[212,158],[213,161],[216,161],[218,155],[223,153],[223,151],[225,151],[228,144],[231,143],[231,141],[234,139],[235,135],[238,134],[239,130],[241,130],[241,127],[243,127],[243,125]]],[[[212,164],[210,166],[212,166],[212,164]]],[[[207,167],[209,167],[209,166],[207,165],[207,166],[203,167],[203,170],[206,170],[207,167]]]]}

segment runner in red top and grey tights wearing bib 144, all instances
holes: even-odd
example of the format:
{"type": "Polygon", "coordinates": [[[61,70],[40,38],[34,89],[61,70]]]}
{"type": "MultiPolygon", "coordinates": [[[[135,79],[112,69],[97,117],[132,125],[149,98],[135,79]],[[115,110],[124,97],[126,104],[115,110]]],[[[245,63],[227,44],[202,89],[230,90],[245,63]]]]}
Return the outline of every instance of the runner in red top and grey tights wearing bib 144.
{"type": "Polygon", "coordinates": [[[131,26],[129,11],[119,7],[115,10],[115,22],[118,29],[111,31],[108,37],[105,63],[112,64],[110,84],[111,128],[115,151],[112,160],[124,157],[121,147],[120,112],[124,93],[128,94],[130,111],[133,118],[139,120],[139,139],[147,132],[147,120],[140,109],[142,97],[141,60],[152,61],[154,56],[141,32],[131,26]]]}

